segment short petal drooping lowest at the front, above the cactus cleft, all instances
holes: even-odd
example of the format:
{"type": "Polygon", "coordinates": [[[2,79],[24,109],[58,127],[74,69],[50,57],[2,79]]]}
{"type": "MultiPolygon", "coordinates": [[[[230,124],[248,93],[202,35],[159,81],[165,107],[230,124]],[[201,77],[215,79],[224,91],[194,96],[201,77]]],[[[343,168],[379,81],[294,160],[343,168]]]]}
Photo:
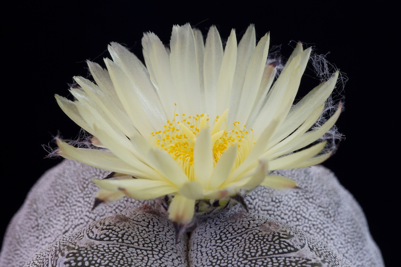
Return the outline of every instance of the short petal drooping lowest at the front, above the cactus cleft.
{"type": "Polygon", "coordinates": [[[175,195],[168,207],[168,218],[178,224],[187,224],[192,220],[194,209],[194,199],[175,195]]]}

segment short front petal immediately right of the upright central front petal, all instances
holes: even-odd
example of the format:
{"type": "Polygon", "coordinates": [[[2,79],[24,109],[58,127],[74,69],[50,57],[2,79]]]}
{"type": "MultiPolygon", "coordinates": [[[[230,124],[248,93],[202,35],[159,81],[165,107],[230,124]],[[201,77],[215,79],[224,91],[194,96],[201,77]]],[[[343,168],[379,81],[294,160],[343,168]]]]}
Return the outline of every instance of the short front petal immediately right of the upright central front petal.
{"type": "Polygon", "coordinates": [[[232,145],[224,151],[213,170],[213,175],[209,181],[209,189],[213,190],[219,188],[219,186],[227,179],[233,169],[237,157],[237,149],[238,146],[232,145]]]}

